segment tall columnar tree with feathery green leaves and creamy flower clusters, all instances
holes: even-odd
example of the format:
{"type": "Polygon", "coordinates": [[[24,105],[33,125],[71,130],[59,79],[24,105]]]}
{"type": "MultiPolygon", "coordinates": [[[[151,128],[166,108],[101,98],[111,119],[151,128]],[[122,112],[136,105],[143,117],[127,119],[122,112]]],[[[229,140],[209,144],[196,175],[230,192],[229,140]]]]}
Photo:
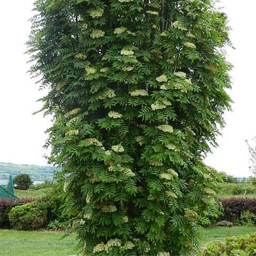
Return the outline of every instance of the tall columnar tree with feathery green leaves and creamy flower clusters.
{"type": "Polygon", "coordinates": [[[192,250],[217,212],[203,157],[230,109],[226,15],[210,0],[34,6],[31,73],[83,253],[192,250]]]}

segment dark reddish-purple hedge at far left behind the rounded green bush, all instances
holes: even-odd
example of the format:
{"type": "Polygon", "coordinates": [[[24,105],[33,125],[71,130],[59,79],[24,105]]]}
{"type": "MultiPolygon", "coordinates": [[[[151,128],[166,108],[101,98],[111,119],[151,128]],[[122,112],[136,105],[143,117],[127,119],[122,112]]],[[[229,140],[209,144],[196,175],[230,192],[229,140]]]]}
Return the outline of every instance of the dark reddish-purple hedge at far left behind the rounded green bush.
{"type": "Polygon", "coordinates": [[[3,199],[0,201],[0,228],[1,229],[8,229],[10,228],[10,221],[8,215],[10,210],[15,206],[21,206],[22,204],[31,203],[34,199],[32,198],[24,198],[18,200],[10,200],[10,199],[3,199]]]}

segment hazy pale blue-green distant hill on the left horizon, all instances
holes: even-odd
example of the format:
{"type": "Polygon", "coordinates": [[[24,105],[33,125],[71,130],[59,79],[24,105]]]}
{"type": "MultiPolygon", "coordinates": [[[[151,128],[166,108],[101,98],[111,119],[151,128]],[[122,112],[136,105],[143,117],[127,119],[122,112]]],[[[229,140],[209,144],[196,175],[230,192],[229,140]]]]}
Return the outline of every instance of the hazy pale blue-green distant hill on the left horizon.
{"type": "Polygon", "coordinates": [[[32,181],[52,180],[53,172],[57,170],[52,166],[34,166],[28,164],[11,164],[0,162],[0,180],[8,180],[9,176],[27,173],[32,181]]]}

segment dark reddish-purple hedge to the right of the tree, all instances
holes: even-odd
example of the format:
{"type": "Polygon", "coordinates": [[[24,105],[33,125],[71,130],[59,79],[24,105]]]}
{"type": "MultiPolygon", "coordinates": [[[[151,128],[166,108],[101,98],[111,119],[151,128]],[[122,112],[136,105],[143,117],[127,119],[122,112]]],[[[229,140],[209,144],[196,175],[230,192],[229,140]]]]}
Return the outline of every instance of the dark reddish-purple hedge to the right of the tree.
{"type": "Polygon", "coordinates": [[[250,211],[250,213],[256,214],[256,199],[248,198],[229,198],[219,199],[224,208],[224,215],[222,219],[234,221],[241,217],[244,211],[250,211]]]}

